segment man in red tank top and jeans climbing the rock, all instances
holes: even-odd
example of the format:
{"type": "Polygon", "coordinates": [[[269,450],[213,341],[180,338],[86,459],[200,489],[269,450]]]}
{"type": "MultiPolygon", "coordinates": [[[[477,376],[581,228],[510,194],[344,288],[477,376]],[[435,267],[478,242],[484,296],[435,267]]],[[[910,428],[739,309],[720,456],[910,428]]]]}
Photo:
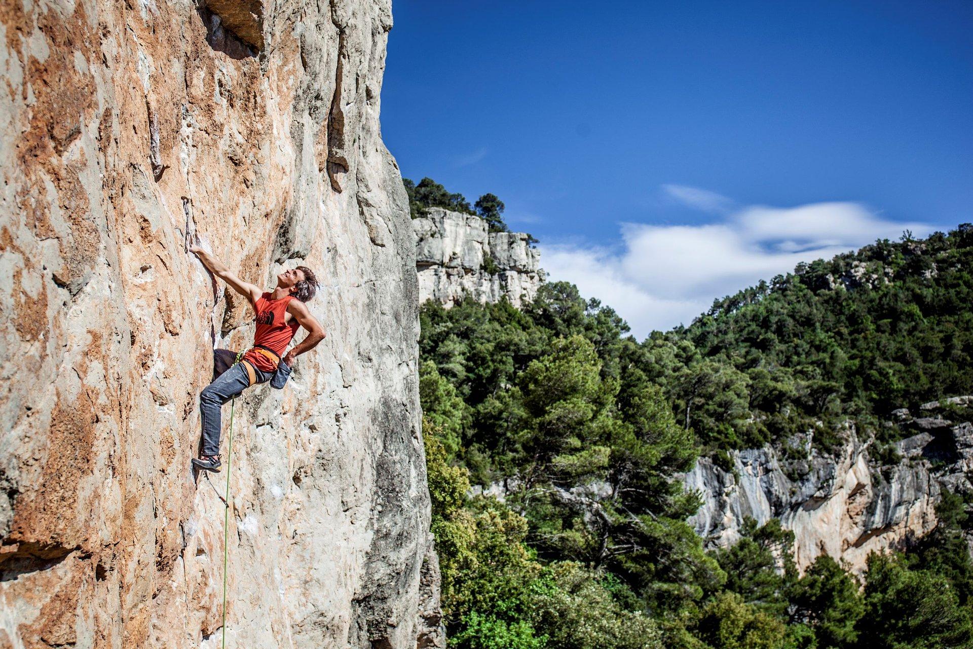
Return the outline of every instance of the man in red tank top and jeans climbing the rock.
{"type": "MultiPolygon", "coordinates": [[[[202,444],[199,457],[193,458],[193,465],[205,471],[219,471],[220,415],[223,404],[244,388],[270,380],[275,373],[286,379],[294,365],[294,359],[324,339],[324,329],[305,306],[314,297],[318,282],[310,269],[299,266],[277,275],[277,286],[272,291],[261,292],[260,288],[241,280],[218,259],[198,246],[191,247],[190,252],[210,272],[246,297],[257,314],[253,346],[242,357],[229,349],[214,349],[213,382],[199,394],[202,444]],[[281,353],[297,333],[298,326],[307,330],[305,340],[281,358],[281,353]]],[[[282,386],[271,384],[275,387],[282,386]]]]}

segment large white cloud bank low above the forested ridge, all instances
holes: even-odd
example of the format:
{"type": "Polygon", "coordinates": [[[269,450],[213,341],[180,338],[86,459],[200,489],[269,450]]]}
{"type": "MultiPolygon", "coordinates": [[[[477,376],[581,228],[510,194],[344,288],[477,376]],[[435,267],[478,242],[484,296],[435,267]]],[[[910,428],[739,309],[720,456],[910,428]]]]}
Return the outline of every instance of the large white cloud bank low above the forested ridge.
{"type": "Polygon", "coordinates": [[[541,265],[550,279],[573,282],[585,297],[614,307],[639,340],[654,329],[689,324],[715,298],[800,262],[898,238],[904,230],[931,231],[925,224],[885,220],[855,202],[751,205],[707,225],[620,228],[617,249],[542,244],[541,265]]]}

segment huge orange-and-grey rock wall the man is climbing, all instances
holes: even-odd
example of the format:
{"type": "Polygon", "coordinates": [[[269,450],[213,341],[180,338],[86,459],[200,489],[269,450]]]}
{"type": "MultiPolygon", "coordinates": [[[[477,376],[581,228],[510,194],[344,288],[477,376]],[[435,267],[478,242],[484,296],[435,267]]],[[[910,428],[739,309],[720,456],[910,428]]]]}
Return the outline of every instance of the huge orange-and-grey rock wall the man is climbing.
{"type": "Polygon", "coordinates": [[[428,637],[387,0],[10,0],[0,22],[0,647],[220,642],[227,473],[189,458],[211,350],[253,325],[197,242],[265,286],[316,270],[328,334],[235,402],[228,646],[428,637]]]}

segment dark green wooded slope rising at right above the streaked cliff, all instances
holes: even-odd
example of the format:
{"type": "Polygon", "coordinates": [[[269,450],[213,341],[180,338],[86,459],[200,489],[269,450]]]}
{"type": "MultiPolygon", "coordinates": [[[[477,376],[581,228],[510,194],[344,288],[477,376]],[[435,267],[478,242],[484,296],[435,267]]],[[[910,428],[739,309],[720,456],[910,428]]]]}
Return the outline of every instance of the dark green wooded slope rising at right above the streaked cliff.
{"type": "Polygon", "coordinates": [[[662,349],[692,343],[714,378],[669,393],[704,442],[732,446],[816,421],[821,431],[848,417],[875,426],[896,409],[971,394],[971,265],[964,224],[879,241],[717,300],[687,329],[652,337],[662,349]],[[714,407],[717,393],[740,398],[714,407]]]}

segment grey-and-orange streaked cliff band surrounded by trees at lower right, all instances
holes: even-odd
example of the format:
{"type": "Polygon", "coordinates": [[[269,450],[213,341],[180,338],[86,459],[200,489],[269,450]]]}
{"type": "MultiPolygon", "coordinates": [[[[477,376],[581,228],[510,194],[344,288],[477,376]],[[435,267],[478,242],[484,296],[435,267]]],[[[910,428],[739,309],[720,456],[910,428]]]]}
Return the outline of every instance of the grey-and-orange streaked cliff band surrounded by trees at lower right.
{"type": "Polygon", "coordinates": [[[900,458],[894,463],[872,459],[874,445],[850,428],[835,451],[805,440],[807,460],[795,462],[771,447],[732,451],[722,468],[701,458],[685,476],[686,487],[703,496],[690,523],[710,547],[723,547],[739,539],[745,518],[760,524],[777,518],[794,531],[800,569],[828,554],[860,571],[871,552],[904,549],[935,527],[943,487],[973,488],[973,425],[935,415],[938,408],[925,404],[916,418],[898,413],[919,432],[894,445],[900,458]]]}

